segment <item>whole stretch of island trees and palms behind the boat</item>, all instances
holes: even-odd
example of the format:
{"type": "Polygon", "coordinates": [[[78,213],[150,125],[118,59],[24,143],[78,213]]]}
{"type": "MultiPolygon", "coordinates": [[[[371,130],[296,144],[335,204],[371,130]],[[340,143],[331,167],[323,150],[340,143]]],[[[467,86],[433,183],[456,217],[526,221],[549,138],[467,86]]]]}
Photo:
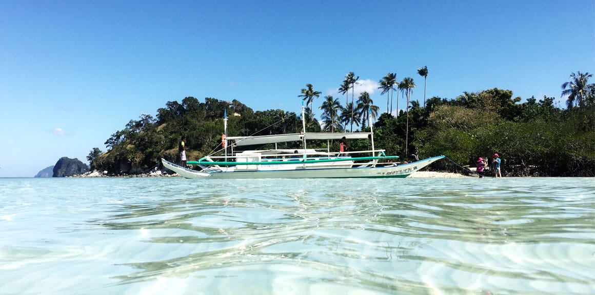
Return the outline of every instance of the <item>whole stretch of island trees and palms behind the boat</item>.
{"type": "MultiPolygon", "coordinates": [[[[389,79],[392,77],[385,78],[389,79]]],[[[344,81],[345,94],[353,87],[354,80],[355,76],[344,81]]],[[[401,88],[409,98],[407,92],[411,84],[399,86],[401,88]]],[[[387,84],[384,93],[390,90],[387,84]]],[[[474,166],[478,157],[491,159],[497,152],[503,160],[504,175],[595,176],[595,87],[588,90],[591,92],[584,97],[577,95],[574,99],[580,103],[568,109],[557,108],[553,105],[554,98],[547,97],[519,103],[521,98],[512,98],[510,90],[496,88],[464,92],[452,100],[430,98],[425,107],[410,101],[408,112],[401,111],[397,117],[387,113],[378,117],[373,126],[375,146],[386,149],[387,154],[400,155],[403,161],[446,155],[452,161],[433,165],[440,170],[462,172],[461,165],[474,166]]],[[[309,105],[320,94],[311,84],[305,92],[300,97],[309,105]]],[[[379,109],[367,93],[362,93],[358,106],[347,101],[346,108],[340,106],[339,99],[332,96],[325,99],[320,107],[324,112],[322,124],[312,118],[311,109],[306,108],[308,132],[350,130],[352,123],[356,128],[361,125],[362,131],[369,131],[365,109],[371,108],[374,115],[379,109]]],[[[142,115],[139,120],[131,120],[105,142],[107,152],[93,148],[87,159],[93,170],[107,170],[111,174],[144,172],[159,165],[160,158],[177,161],[181,136],[187,138],[190,160],[220,152],[224,112],[228,115],[228,136],[302,130],[301,114],[280,109],[255,112],[235,100],[206,98],[205,102],[199,102],[187,97],[181,103],[167,102],[165,108],[157,110],[156,118],[142,115]]],[[[327,145],[319,144],[309,148],[327,145]]],[[[339,149],[339,143],[332,144],[333,149],[339,149]]],[[[351,143],[352,148],[362,145],[367,143],[351,143]]],[[[288,144],[284,148],[298,147],[288,144]]]]}

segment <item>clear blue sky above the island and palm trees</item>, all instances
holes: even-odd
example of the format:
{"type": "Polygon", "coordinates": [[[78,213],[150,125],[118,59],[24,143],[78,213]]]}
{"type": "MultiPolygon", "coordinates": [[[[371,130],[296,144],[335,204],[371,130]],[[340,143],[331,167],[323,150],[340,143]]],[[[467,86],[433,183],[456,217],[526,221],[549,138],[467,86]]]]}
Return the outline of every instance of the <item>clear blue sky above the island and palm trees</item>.
{"type": "Polygon", "coordinates": [[[572,72],[595,73],[595,1],[0,0],[0,177],[87,162],[186,96],[299,112],[306,83],[345,99],[353,71],[386,111],[375,83],[409,76],[423,99],[424,65],[428,98],[560,98],[572,72]]]}

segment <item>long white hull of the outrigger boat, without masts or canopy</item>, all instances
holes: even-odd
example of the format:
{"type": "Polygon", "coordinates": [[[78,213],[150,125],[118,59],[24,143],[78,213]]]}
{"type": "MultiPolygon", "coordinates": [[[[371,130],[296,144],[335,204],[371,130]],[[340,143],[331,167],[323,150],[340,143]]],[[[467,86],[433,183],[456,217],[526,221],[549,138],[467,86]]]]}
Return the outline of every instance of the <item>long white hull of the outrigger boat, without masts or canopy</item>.
{"type": "Polygon", "coordinates": [[[230,172],[214,171],[202,172],[190,170],[161,159],[165,168],[168,168],[182,177],[186,178],[220,178],[220,179],[242,179],[242,178],[387,178],[387,177],[408,177],[415,171],[427,167],[433,162],[444,158],[444,156],[436,156],[433,158],[423,159],[409,164],[390,165],[384,167],[353,167],[353,168],[289,168],[288,170],[252,170],[241,171],[234,170],[230,172]]]}

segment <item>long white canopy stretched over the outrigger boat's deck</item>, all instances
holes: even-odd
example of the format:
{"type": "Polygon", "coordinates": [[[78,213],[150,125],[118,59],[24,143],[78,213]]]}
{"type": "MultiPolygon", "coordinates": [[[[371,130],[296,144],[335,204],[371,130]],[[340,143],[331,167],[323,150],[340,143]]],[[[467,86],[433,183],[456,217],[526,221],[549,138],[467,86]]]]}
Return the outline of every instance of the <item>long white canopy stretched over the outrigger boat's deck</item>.
{"type": "Polygon", "coordinates": [[[234,140],[235,146],[264,145],[266,143],[278,142],[299,142],[302,140],[339,140],[345,139],[368,139],[372,133],[354,132],[354,133],[291,133],[275,134],[263,136],[230,136],[227,140],[234,140]]]}

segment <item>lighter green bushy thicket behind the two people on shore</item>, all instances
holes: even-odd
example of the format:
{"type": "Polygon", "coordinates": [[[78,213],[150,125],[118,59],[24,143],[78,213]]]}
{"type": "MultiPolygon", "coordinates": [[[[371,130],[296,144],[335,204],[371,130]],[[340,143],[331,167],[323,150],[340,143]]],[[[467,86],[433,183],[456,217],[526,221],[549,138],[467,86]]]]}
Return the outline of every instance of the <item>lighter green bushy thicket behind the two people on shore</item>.
{"type": "Polygon", "coordinates": [[[595,104],[560,110],[553,98],[518,104],[511,95],[491,89],[441,103],[426,128],[412,129],[411,145],[468,165],[497,152],[508,175],[595,176],[595,104]]]}

